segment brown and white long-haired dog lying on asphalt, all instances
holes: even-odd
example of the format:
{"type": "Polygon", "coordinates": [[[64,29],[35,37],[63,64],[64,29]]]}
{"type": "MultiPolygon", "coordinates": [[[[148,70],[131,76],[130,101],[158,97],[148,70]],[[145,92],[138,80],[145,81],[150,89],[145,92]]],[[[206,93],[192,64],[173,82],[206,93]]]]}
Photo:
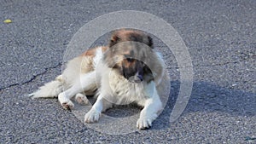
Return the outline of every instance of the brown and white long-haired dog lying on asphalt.
{"type": "Polygon", "coordinates": [[[162,109],[156,87],[163,76],[164,60],[154,51],[152,38],[138,30],[121,29],[113,32],[108,46],[88,49],[69,60],[60,76],[30,96],[57,97],[63,108],[72,109],[73,97],[86,104],[87,95],[96,95],[85,123],[97,122],[113,105],[136,103],[143,107],[137,128],[145,130],[162,109]]]}

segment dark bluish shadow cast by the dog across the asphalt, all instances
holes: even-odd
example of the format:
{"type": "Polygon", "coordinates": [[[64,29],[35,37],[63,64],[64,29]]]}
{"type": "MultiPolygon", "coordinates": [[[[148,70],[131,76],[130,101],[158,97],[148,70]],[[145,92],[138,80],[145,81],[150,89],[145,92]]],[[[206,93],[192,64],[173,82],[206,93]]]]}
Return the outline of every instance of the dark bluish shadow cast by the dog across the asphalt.
{"type": "MultiPolygon", "coordinates": [[[[160,116],[154,121],[153,130],[162,130],[170,128],[170,115],[177,101],[180,82],[171,82],[172,90],[166,107],[160,113],[160,116]]],[[[192,93],[183,115],[189,112],[225,112],[230,115],[252,117],[256,114],[255,94],[237,89],[225,89],[215,84],[206,82],[194,82],[192,93]]],[[[178,118],[177,121],[178,123],[178,118]]],[[[174,123],[175,123],[174,122],[174,123]]]]}

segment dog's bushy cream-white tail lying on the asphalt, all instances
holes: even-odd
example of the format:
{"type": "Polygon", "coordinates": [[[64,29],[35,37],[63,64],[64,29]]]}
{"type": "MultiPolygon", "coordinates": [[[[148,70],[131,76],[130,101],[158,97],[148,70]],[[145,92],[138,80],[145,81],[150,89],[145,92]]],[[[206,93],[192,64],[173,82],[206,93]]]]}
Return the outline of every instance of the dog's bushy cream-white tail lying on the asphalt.
{"type": "Polygon", "coordinates": [[[44,86],[40,87],[37,91],[27,96],[32,99],[35,98],[54,98],[58,97],[58,95],[63,91],[63,81],[62,76],[55,78],[54,81],[51,81],[44,86]]]}

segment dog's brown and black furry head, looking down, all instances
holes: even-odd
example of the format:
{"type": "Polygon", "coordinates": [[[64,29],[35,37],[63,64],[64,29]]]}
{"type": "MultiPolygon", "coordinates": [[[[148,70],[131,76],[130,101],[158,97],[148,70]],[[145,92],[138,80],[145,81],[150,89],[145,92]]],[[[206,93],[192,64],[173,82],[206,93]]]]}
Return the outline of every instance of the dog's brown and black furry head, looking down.
{"type": "Polygon", "coordinates": [[[151,81],[153,74],[147,66],[153,53],[152,38],[140,31],[113,32],[104,60],[130,82],[151,81]]]}

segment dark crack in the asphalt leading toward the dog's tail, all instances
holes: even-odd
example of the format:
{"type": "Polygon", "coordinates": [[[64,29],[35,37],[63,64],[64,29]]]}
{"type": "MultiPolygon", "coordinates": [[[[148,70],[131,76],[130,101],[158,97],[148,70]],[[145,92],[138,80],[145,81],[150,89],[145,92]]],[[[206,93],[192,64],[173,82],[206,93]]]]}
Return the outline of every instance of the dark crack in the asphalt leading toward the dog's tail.
{"type": "Polygon", "coordinates": [[[38,78],[38,76],[44,75],[44,74],[47,73],[49,70],[55,69],[55,68],[57,68],[58,66],[61,66],[61,65],[62,65],[62,63],[59,62],[59,63],[57,63],[55,66],[46,67],[46,68],[44,68],[44,72],[38,73],[38,74],[36,74],[36,75],[33,75],[32,78],[30,78],[30,79],[27,80],[26,82],[23,82],[23,83],[21,83],[21,84],[20,84],[20,83],[10,84],[10,85],[8,85],[8,86],[5,86],[5,87],[3,87],[3,88],[0,88],[0,91],[3,90],[3,89],[9,89],[9,88],[14,87],[14,86],[17,86],[17,85],[28,84],[28,83],[32,82],[34,79],[38,78]]]}

